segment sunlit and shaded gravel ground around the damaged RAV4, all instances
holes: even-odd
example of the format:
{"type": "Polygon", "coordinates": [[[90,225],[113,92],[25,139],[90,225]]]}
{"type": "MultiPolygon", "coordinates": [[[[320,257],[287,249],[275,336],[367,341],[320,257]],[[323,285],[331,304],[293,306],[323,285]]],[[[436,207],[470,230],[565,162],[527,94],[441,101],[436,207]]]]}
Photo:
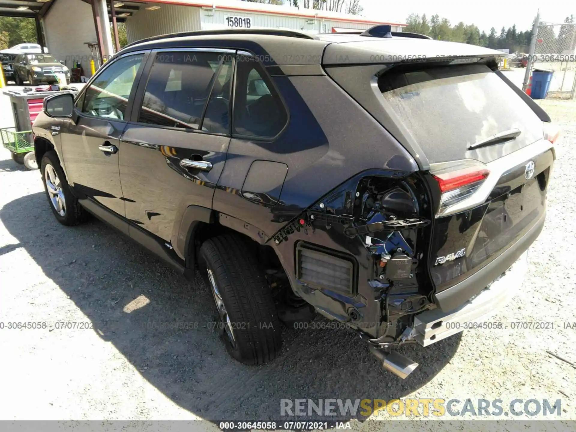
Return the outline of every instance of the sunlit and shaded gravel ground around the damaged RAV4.
{"type": "Polygon", "coordinates": [[[267,420],[280,418],[281,399],[407,397],[561,399],[561,418],[576,419],[576,368],[545,352],[576,362],[576,329],[564,328],[576,321],[576,103],[541,104],[564,135],[547,222],[521,292],[494,321],[552,321],[554,329],[465,331],[404,347],[420,363],[404,381],[346,330],[284,329],[270,365],[233,361],[206,328],[215,312],[200,278],[186,281],[104,223],[59,225],[39,172],[1,149],[0,321],[47,328],[0,330],[0,419],[267,420]],[[93,328],[56,329],[61,321],[93,328]]]}

